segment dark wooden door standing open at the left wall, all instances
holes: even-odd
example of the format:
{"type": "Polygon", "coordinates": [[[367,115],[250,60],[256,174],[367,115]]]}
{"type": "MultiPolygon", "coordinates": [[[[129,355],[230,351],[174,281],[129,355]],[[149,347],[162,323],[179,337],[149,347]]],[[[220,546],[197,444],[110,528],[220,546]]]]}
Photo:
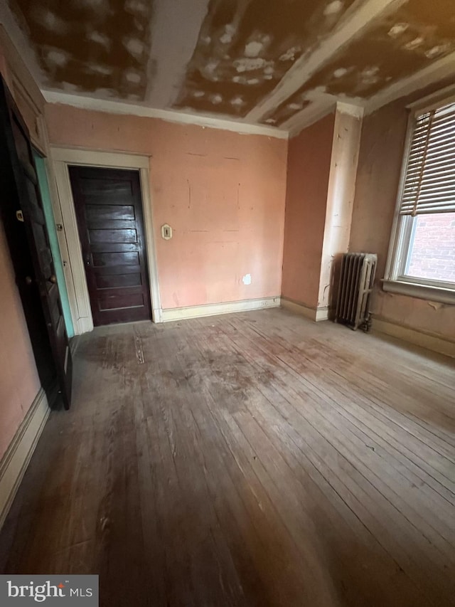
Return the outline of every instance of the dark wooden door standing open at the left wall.
{"type": "Polygon", "coordinates": [[[28,130],[1,81],[1,206],[16,283],[43,388],[70,407],[73,363],[28,130]],[[56,380],[56,381],[55,381],[56,380]]]}

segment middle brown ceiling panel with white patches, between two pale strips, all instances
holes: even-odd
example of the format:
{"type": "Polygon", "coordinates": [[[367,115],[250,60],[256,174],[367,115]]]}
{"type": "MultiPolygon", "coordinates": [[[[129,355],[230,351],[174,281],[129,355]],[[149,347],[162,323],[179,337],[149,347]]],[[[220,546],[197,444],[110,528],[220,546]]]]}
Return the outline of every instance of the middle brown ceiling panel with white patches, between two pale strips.
{"type": "Polygon", "coordinates": [[[211,0],[173,107],[245,117],[354,0],[211,0]]]}

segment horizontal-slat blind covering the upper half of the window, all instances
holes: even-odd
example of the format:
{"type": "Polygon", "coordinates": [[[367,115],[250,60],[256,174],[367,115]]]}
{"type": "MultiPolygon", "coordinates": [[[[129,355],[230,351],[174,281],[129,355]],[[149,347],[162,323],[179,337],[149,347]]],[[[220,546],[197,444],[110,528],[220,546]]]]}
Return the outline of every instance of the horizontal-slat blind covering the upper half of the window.
{"type": "Polygon", "coordinates": [[[415,119],[401,215],[455,212],[455,103],[415,119]]]}

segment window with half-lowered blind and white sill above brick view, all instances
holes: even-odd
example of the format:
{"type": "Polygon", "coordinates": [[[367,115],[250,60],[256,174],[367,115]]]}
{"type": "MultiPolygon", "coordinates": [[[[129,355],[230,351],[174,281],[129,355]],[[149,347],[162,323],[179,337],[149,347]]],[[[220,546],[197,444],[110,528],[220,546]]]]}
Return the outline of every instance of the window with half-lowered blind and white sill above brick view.
{"type": "Polygon", "coordinates": [[[455,302],[455,102],[416,112],[384,289],[455,302]]]}

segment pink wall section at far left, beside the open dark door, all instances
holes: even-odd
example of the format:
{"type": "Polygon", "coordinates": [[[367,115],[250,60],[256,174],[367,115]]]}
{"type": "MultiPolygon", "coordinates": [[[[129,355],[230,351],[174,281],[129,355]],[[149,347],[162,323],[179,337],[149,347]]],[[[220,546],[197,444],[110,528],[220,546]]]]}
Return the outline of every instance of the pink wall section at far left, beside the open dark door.
{"type": "Polygon", "coordinates": [[[40,389],[38,372],[0,226],[0,458],[40,389]]]}

